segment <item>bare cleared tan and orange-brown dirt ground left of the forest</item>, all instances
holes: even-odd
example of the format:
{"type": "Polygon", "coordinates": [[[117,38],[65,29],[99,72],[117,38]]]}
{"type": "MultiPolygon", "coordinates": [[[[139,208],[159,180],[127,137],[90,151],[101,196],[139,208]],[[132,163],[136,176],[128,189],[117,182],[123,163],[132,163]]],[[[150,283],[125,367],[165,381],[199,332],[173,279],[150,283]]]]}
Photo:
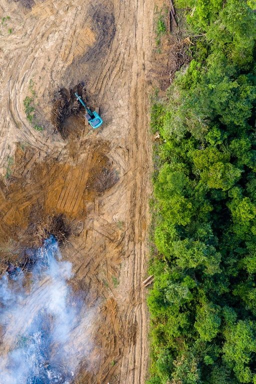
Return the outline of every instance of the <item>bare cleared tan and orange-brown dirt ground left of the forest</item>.
{"type": "Polygon", "coordinates": [[[12,28],[8,34],[1,26],[0,35],[1,173],[8,156],[15,153],[16,162],[0,193],[7,250],[19,246],[22,230],[41,214],[65,213],[74,220],[76,233],[62,253],[73,263],[74,287],[100,302],[95,366],[82,366],[75,382],[143,384],[148,316],[141,281],[148,257],[147,79],[154,2],[45,0],[26,9],[0,0],[0,12],[10,16],[12,28]],[[24,115],[29,79],[43,133],[24,115]],[[51,134],[51,95],[82,80],[91,103],[100,105],[104,125],[92,133],[81,116],[69,118],[78,134],[63,140],[51,134]],[[17,142],[29,150],[15,149],[17,142]],[[99,193],[97,174],[100,178],[106,164],[119,180],[99,193]]]}

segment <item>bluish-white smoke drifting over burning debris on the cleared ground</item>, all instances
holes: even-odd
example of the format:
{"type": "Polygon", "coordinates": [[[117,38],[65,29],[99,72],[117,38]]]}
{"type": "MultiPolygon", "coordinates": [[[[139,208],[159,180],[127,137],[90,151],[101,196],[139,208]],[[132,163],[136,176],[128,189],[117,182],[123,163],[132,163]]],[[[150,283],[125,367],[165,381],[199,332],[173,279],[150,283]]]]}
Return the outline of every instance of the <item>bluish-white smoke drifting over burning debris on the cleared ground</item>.
{"type": "Polygon", "coordinates": [[[15,269],[0,279],[0,384],[68,384],[90,352],[93,311],[72,294],[53,236],[32,259],[26,278],[15,269]]]}

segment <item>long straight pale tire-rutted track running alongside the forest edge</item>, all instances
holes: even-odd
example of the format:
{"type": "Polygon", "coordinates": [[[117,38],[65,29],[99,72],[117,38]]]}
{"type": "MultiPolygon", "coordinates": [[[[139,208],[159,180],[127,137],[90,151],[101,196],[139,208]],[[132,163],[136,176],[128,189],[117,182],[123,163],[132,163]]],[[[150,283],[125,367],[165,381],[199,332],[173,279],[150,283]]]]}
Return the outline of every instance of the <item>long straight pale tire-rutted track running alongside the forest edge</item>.
{"type": "MultiPolygon", "coordinates": [[[[146,4],[146,1],[137,3],[137,8],[142,7],[142,12],[139,14],[143,15],[143,21],[146,20],[147,15],[144,12],[144,9],[148,8],[149,4],[146,4]]],[[[138,12],[138,11],[137,11],[138,12]]],[[[138,14],[138,13],[137,13],[138,14]]],[[[150,19],[150,18],[149,18],[150,19]]],[[[152,20],[152,15],[151,15],[152,20]]],[[[130,129],[130,134],[133,136],[133,145],[132,145],[132,156],[130,157],[130,165],[138,166],[134,169],[134,185],[131,189],[130,194],[130,221],[135,225],[132,225],[131,235],[134,238],[134,247],[131,251],[131,254],[134,257],[134,268],[132,268],[131,262],[128,267],[130,271],[130,278],[133,277],[133,291],[132,296],[135,299],[136,304],[131,308],[131,312],[136,319],[138,324],[137,326],[137,335],[136,343],[134,345],[134,350],[129,353],[134,357],[133,367],[136,367],[134,371],[125,373],[121,376],[121,381],[125,383],[133,382],[140,383],[143,382],[146,375],[146,360],[147,360],[147,321],[146,321],[146,308],[145,308],[145,297],[143,288],[141,286],[141,278],[143,277],[144,262],[146,259],[146,249],[144,248],[144,234],[145,234],[145,217],[147,217],[148,223],[148,207],[147,207],[147,188],[146,184],[148,183],[147,174],[148,174],[148,163],[150,162],[150,149],[148,141],[144,140],[144,136],[147,134],[148,118],[147,114],[143,113],[147,108],[148,100],[146,98],[146,86],[145,86],[145,73],[143,73],[144,68],[144,55],[145,49],[147,48],[146,44],[143,42],[143,37],[146,39],[148,36],[145,36],[143,32],[138,31],[138,25],[141,25],[142,20],[135,22],[136,29],[136,64],[134,65],[134,70],[132,73],[133,84],[131,85],[132,95],[131,98],[134,99],[134,105],[132,110],[132,125],[130,129]],[[142,70],[141,70],[142,69],[142,70]],[[141,185],[142,183],[142,185],[141,185]],[[143,185],[144,184],[144,185],[143,185]],[[141,187],[143,186],[143,187],[141,187]],[[143,225],[141,225],[141,212],[143,212],[143,225]],[[134,228],[135,227],[135,228],[134,228]],[[134,232],[135,229],[135,232],[134,232]]],[[[143,30],[143,22],[142,22],[143,30]]],[[[148,39],[149,40],[149,39],[148,39]]],[[[148,41],[147,40],[147,41],[148,41]]],[[[129,257],[129,260],[131,257],[129,257]]],[[[129,364],[127,364],[128,366],[129,364]]]]}

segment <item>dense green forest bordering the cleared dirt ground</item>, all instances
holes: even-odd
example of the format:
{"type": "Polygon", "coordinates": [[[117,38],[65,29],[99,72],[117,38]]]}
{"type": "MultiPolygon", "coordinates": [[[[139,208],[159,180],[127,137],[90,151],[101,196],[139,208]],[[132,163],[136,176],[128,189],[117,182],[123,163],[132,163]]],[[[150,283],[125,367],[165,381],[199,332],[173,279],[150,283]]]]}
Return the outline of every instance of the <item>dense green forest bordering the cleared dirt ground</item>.
{"type": "Polygon", "coordinates": [[[150,384],[256,384],[254,0],[176,0],[197,40],[155,151],[150,384]]]}

